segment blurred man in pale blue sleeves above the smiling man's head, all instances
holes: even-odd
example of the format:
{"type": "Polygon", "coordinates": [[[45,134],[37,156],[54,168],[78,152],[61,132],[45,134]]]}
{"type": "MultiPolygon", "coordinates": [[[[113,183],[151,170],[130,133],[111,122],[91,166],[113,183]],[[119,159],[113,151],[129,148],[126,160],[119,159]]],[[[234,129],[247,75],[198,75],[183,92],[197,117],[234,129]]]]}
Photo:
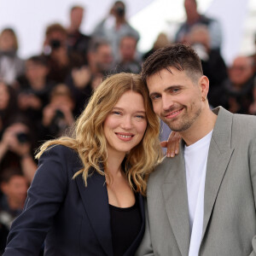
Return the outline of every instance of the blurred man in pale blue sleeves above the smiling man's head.
{"type": "Polygon", "coordinates": [[[184,0],[187,19],[178,28],[175,42],[186,43],[190,30],[196,25],[207,26],[210,32],[211,49],[220,49],[222,43],[221,26],[218,20],[201,15],[197,10],[196,0],[184,0]]]}

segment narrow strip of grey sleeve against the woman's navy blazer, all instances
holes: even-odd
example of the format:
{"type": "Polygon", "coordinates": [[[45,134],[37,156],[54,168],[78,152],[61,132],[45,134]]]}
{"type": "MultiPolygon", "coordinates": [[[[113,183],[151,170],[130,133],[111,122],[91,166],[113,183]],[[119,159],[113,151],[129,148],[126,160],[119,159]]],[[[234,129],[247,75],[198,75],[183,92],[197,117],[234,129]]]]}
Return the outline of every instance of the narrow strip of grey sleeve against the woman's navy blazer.
{"type": "Polygon", "coordinates": [[[151,244],[151,236],[149,230],[149,221],[148,221],[148,207],[147,207],[147,200],[145,200],[145,233],[143,236],[143,241],[141,242],[140,246],[135,253],[135,256],[154,256],[152,244],[151,244]]]}

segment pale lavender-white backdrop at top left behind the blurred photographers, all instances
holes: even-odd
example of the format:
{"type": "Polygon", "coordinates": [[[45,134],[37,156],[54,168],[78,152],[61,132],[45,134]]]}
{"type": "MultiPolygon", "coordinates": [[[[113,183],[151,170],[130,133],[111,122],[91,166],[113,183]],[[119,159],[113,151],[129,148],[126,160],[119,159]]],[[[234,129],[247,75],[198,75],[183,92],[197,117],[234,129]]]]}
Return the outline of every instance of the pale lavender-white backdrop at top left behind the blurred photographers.
{"type": "MultiPolygon", "coordinates": [[[[154,0],[130,1],[127,3],[127,16],[137,14],[154,0]]],[[[1,0],[0,30],[12,26],[20,42],[19,53],[22,57],[38,54],[44,41],[45,27],[53,22],[68,25],[69,9],[74,4],[83,5],[86,9],[82,24],[83,32],[90,33],[96,23],[105,15],[113,0],[1,0]]]]}

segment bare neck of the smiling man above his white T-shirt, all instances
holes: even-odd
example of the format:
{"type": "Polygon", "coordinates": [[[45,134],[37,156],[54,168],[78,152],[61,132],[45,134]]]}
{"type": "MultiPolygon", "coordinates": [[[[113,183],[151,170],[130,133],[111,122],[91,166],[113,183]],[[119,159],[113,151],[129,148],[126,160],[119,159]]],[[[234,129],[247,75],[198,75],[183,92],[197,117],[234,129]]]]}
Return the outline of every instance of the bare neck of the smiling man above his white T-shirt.
{"type": "Polygon", "coordinates": [[[199,119],[197,119],[189,129],[180,132],[186,145],[190,146],[201,140],[202,137],[207,136],[207,134],[213,130],[216,120],[217,115],[212,113],[210,108],[201,113],[199,119]]]}

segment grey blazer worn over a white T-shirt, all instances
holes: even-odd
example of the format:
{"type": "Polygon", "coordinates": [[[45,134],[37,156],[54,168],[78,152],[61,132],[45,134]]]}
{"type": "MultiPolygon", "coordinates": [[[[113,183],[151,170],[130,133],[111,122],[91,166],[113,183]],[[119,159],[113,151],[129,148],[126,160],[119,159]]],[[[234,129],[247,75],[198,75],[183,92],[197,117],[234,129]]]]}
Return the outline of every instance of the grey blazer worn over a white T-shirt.
{"type": "MultiPolygon", "coordinates": [[[[256,117],[215,108],[199,255],[256,255],[256,117]]],[[[198,152],[200,154],[200,152],[198,152]]],[[[148,180],[148,223],[137,255],[187,256],[189,208],[183,144],[148,180]]]]}

